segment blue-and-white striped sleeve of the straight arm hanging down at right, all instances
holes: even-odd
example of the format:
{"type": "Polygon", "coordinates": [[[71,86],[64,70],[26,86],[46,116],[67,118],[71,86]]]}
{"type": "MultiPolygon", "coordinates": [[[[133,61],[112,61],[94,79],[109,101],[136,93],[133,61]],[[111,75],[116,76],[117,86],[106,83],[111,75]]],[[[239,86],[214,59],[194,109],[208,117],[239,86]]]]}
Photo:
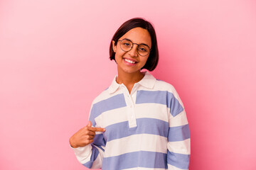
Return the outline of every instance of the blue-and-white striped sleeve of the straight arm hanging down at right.
{"type": "Polygon", "coordinates": [[[191,140],[186,112],[181,99],[174,91],[169,99],[170,118],[167,143],[167,165],[169,170],[188,169],[191,140]]]}

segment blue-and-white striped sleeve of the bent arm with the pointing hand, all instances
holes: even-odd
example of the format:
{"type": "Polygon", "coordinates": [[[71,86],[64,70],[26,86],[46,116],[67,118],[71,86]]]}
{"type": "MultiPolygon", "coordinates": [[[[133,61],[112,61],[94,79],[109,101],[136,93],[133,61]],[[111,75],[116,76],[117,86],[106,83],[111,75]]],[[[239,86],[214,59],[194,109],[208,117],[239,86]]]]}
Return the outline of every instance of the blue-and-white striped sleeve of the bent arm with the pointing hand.
{"type": "MultiPolygon", "coordinates": [[[[92,121],[92,127],[98,127],[90,111],[89,120],[92,121]]],[[[102,167],[102,159],[105,152],[105,138],[102,132],[96,132],[93,142],[85,147],[73,148],[75,156],[83,166],[88,169],[100,169],[102,167]]]]}

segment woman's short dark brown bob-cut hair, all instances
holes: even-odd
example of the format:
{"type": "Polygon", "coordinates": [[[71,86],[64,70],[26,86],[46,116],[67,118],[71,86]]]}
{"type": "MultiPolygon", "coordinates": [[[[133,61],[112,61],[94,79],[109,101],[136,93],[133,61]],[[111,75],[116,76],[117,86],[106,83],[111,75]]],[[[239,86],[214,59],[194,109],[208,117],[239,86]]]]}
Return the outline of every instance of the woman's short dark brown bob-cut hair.
{"type": "MultiPolygon", "coordinates": [[[[151,36],[151,51],[149,53],[149,58],[146,61],[146,64],[142,69],[147,69],[149,71],[153,71],[156,68],[156,65],[159,61],[159,51],[157,47],[157,41],[156,41],[156,32],[154,30],[154,27],[149,23],[149,21],[144,20],[144,18],[132,18],[129,21],[126,21],[122,24],[117,30],[116,33],[114,33],[114,36],[112,40],[114,40],[114,45],[117,45],[117,42],[119,38],[122,37],[125,33],[127,33],[129,30],[132,30],[132,28],[144,28],[149,31],[149,34],[151,36]]],[[[110,60],[114,60],[115,52],[112,48],[112,40],[110,42],[110,60]]]]}

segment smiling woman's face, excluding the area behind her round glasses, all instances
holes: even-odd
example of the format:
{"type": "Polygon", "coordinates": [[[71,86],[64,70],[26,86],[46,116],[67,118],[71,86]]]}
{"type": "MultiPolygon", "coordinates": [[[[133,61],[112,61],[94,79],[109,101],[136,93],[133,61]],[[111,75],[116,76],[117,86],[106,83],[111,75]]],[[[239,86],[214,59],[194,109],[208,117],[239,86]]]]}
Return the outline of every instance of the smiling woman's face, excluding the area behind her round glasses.
{"type": "MultiPolygon", "coordinates": [[[[151,37],[149,31],[144,28],[132,28],[127,33],[125,33],[119,40],[124,38],[131,40],[133,43],[146,44],[151,49],[151,37]]],[[[117,62],[118,72],[125,73],[136,73],[140,72],[140,69],[146,64],[146,60],[149,57],[149,54],[146,56],[141,56],[137,52],[138,45],[134,44],[132,50],[125,52],[120,47],[120,41],[117,42],[117,45],[114,45],[112,41],[112,47],[115,52],[115,61],[117,62]]]]}

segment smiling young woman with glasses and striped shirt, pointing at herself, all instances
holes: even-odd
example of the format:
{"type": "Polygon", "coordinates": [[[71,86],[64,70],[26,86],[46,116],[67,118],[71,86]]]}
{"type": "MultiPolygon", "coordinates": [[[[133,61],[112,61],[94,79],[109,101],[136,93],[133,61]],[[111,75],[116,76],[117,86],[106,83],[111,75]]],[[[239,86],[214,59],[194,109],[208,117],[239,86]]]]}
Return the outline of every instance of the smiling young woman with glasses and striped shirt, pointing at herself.
{"type": "Polygon", "coordinates": [[[156,33],[132,18],[110,43],[118,75],[92,102],[89,123],[70,137],[78,161],[89,169],[188,169],[190,133],[174,86],[149,72],[159,60],[156,33]]]}

